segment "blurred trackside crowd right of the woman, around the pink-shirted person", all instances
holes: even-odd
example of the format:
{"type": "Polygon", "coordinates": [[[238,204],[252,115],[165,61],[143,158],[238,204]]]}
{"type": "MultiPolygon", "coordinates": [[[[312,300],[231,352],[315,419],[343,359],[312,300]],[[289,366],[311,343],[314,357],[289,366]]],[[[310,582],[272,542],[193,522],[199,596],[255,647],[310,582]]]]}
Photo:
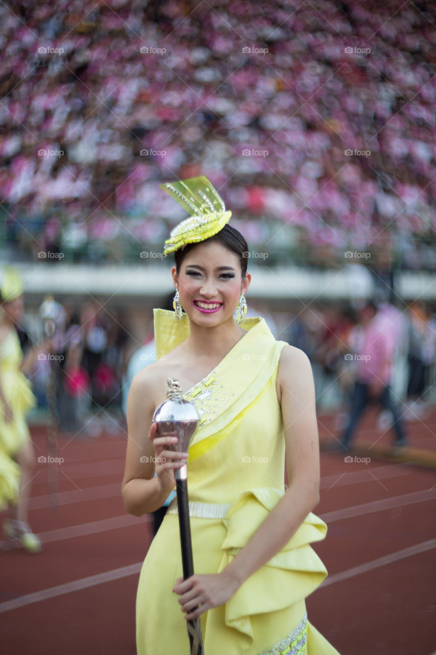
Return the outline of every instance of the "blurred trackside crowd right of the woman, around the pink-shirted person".
{"type": "MultiPolygon", "coordinates": [[[[317,402],[323,409],[346,406],[361,361],[374,360],[377,354],[365,349],[366,309],[365,303],[342,308],[315,303],[291,314],[286,340],[312,362],[317,402]]],[[[427,403],[436,400],[436,306],[416,300],[399,310],[381,301],[371,321],[369,343],[383,335],[388,346],[387,381],[395,403],[406,419],[422,418],[427,403]]]]}

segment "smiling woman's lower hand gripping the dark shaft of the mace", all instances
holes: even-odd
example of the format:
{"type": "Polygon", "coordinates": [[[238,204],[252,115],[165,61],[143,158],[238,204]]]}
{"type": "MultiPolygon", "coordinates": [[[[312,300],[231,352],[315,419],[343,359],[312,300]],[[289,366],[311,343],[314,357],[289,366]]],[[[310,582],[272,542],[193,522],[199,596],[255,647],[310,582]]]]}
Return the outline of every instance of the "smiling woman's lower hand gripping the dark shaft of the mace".
{"type": "Polygon", "coordinates": [[[221,571],[209,575],[194,574],[187,580],[177,578],[173,591],[180,596],[182,612],[187,612],[185,619],[191,621],[212,607],[223,605],[238,587],[234,578],[221,571]]]}

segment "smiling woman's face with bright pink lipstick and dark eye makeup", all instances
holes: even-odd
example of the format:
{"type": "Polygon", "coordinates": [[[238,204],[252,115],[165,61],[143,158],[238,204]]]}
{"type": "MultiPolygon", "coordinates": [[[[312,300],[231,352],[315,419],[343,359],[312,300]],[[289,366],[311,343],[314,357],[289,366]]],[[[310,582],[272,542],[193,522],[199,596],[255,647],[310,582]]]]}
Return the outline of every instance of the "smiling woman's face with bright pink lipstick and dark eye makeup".
{"type": "Polygon", "coordinates": [[[172,270],[180,303],[190,320],[198,325],[215,326],[232,320],[242,291],[251,276],[242,271],[238,255],[221,243],[200,243],[184,257],[179,276],[172,270]]]}

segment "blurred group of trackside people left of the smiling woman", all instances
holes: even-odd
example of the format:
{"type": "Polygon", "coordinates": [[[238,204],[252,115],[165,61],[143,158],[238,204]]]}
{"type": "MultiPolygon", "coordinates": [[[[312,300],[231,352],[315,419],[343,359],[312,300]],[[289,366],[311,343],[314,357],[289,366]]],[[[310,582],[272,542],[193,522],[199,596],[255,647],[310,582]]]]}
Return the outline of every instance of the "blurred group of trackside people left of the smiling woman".
{"type": "MultiPolygon", "coordinates": [[[[48,296],[39,310],[41,348],[31,373],[40,407],[63,432],[118,434],[128,333],[113,310],[98,301],[63,305],[48,296]]],[[[35,326],[35,322],[33,322],[35,326]]]]}

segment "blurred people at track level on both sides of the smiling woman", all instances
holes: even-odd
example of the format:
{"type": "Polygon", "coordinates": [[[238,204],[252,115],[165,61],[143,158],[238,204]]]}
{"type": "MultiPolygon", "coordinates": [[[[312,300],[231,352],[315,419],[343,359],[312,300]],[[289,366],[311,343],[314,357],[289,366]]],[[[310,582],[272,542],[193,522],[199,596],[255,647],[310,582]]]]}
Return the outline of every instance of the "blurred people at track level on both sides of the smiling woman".
{"type": "MultiPolygon", "coordinates": [[[[172,298],[165,300],[162,307],[172,309],[170,301],[172,298]]],[[[249,315],[257,315],[251,311],[249,315]]],[[[270,314],[264,307],[261,314],[276,338],[306,352],[314,372],[318,408],[335,411],[340,428],[346,416],[340,411],[346,411],[361,361],[372,358],[370,365],[375,365],[376,350],[369,356],[364,345],[365,303],[311,303],[280,315],[270,314]]],[[[64,432],[84,438],[103,431],[119,434],[125,426],[132,378],[155,361],[151,322],[139,344],[120,314],[102,309],[94,301],[79,310],[73,301],[60,305],[48,297],[39,319],[39,337],[34,332],[29,340],[26,330],[19,331],[25,352],[32,342],[42,344],[29,372],[39,406],[56,413],[64,432]],[[50,330],[51,324],[54,329],[50,330]]],[[[35,326],[35,320],[32,324],[35,326]]],[[[436,402],[436,306],[416,300],[399,310],[380,302],[372,325],[388,344],[393,401],[400,405],[403,418],[424,418],[428,403],[436,402]]],[[[373,342],[374,333],[370,344],[373,342]]]]}

